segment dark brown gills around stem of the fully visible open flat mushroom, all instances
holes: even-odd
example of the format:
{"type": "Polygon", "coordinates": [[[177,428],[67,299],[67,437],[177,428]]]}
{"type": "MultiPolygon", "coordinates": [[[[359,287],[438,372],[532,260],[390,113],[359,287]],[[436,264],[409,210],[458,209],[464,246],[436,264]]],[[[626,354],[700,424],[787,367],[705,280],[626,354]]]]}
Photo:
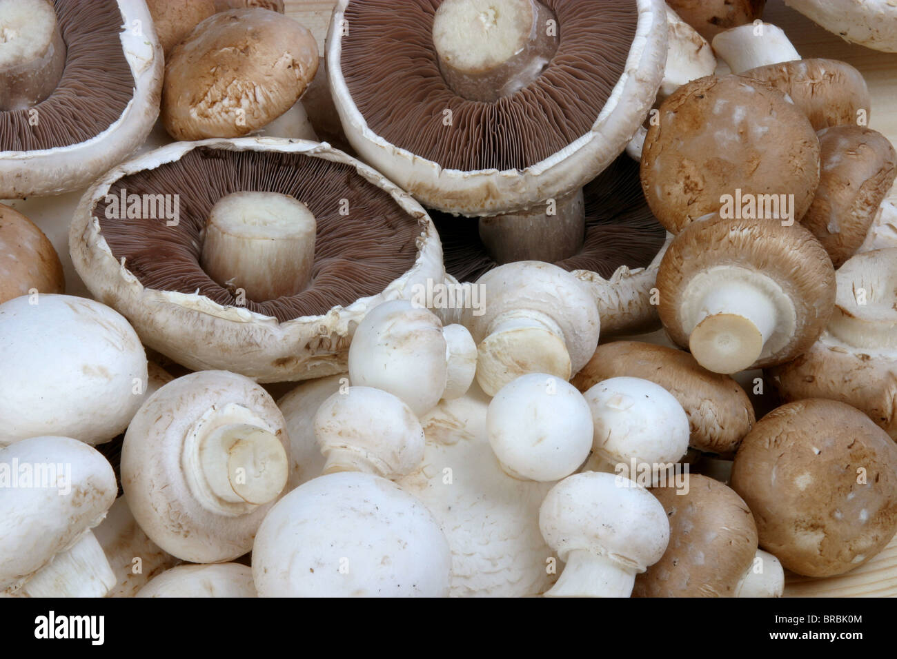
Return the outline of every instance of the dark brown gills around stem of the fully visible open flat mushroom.
{"type": "Polygon", "coordinates": [[[426,217],[409,215],[352,165],[301,153],[197,147],[180,160],[120,178],[109,187],[113,197],[178,195],[175,226],[167,226],[165,219],[115,217],[128,213],[114,209],[109,209],[113,217],[107,217],[109,196],[95,205],[93,215],[113,256],[124,258],[144,287],[196,293],[238,306],[236,291],[214,282],[200,267],[200,256],[213,205],[239,191],[291,195],[308,206],[318,224],[309,285],[276,299],[246,299],[249,311],[281,322],[323,316],[379,294],[414,266],[426,217]]]}

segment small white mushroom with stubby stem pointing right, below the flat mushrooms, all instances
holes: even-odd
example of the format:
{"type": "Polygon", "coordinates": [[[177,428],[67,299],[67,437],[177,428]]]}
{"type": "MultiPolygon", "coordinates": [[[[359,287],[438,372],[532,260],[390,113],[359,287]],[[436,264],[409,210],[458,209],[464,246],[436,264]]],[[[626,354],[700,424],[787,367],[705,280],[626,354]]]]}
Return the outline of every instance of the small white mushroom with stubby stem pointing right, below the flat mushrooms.
{"type": "Polygon", "coordinates": [[[370,310],[349,347],[349,377],[401,398],[420,416],[440,398],[466,393],[476,344],[463,325],[442,326],[430,310],[394,299],[370,310]]]}

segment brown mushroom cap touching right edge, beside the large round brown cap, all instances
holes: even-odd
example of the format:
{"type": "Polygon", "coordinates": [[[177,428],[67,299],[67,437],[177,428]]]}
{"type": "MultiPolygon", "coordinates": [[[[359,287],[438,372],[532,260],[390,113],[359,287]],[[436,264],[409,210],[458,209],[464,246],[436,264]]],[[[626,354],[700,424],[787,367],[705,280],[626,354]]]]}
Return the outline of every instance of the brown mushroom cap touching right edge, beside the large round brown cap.
{"type": "Polygon", "coordinates": [[[801,223],[837,268],[866,240],[897,178],[897,152],[883,134],[862,126],[832,126],[818,135],[822,178],[801,223]]]}

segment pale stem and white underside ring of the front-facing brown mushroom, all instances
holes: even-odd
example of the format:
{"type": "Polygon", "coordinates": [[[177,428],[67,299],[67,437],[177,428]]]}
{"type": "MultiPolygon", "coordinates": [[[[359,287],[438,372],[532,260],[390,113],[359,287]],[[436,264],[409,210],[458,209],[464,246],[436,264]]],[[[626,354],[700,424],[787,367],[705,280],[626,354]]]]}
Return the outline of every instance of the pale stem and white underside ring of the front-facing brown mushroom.
{"type": "Polygon", "coordinates": [[[793,304],[779,285],[745,268],[701,273],[684,299],[684,326],[692,328],[689,349],[714,373],[749,368],[763,354],[778,350],[796,323],[793,304]]]}

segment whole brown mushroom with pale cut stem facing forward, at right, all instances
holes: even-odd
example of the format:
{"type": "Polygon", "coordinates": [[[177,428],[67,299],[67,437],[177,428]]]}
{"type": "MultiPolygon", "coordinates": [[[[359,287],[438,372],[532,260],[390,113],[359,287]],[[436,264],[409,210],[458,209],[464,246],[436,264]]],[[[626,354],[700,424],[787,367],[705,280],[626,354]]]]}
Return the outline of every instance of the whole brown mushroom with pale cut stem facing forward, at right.
{"type": "Polygon", "coordinates": [[[715,217],[675,238],[658,294],[670,338],[705,369],[736,373],[809,350],[832,316],[835,273],[801,226],[715,217]]]}

